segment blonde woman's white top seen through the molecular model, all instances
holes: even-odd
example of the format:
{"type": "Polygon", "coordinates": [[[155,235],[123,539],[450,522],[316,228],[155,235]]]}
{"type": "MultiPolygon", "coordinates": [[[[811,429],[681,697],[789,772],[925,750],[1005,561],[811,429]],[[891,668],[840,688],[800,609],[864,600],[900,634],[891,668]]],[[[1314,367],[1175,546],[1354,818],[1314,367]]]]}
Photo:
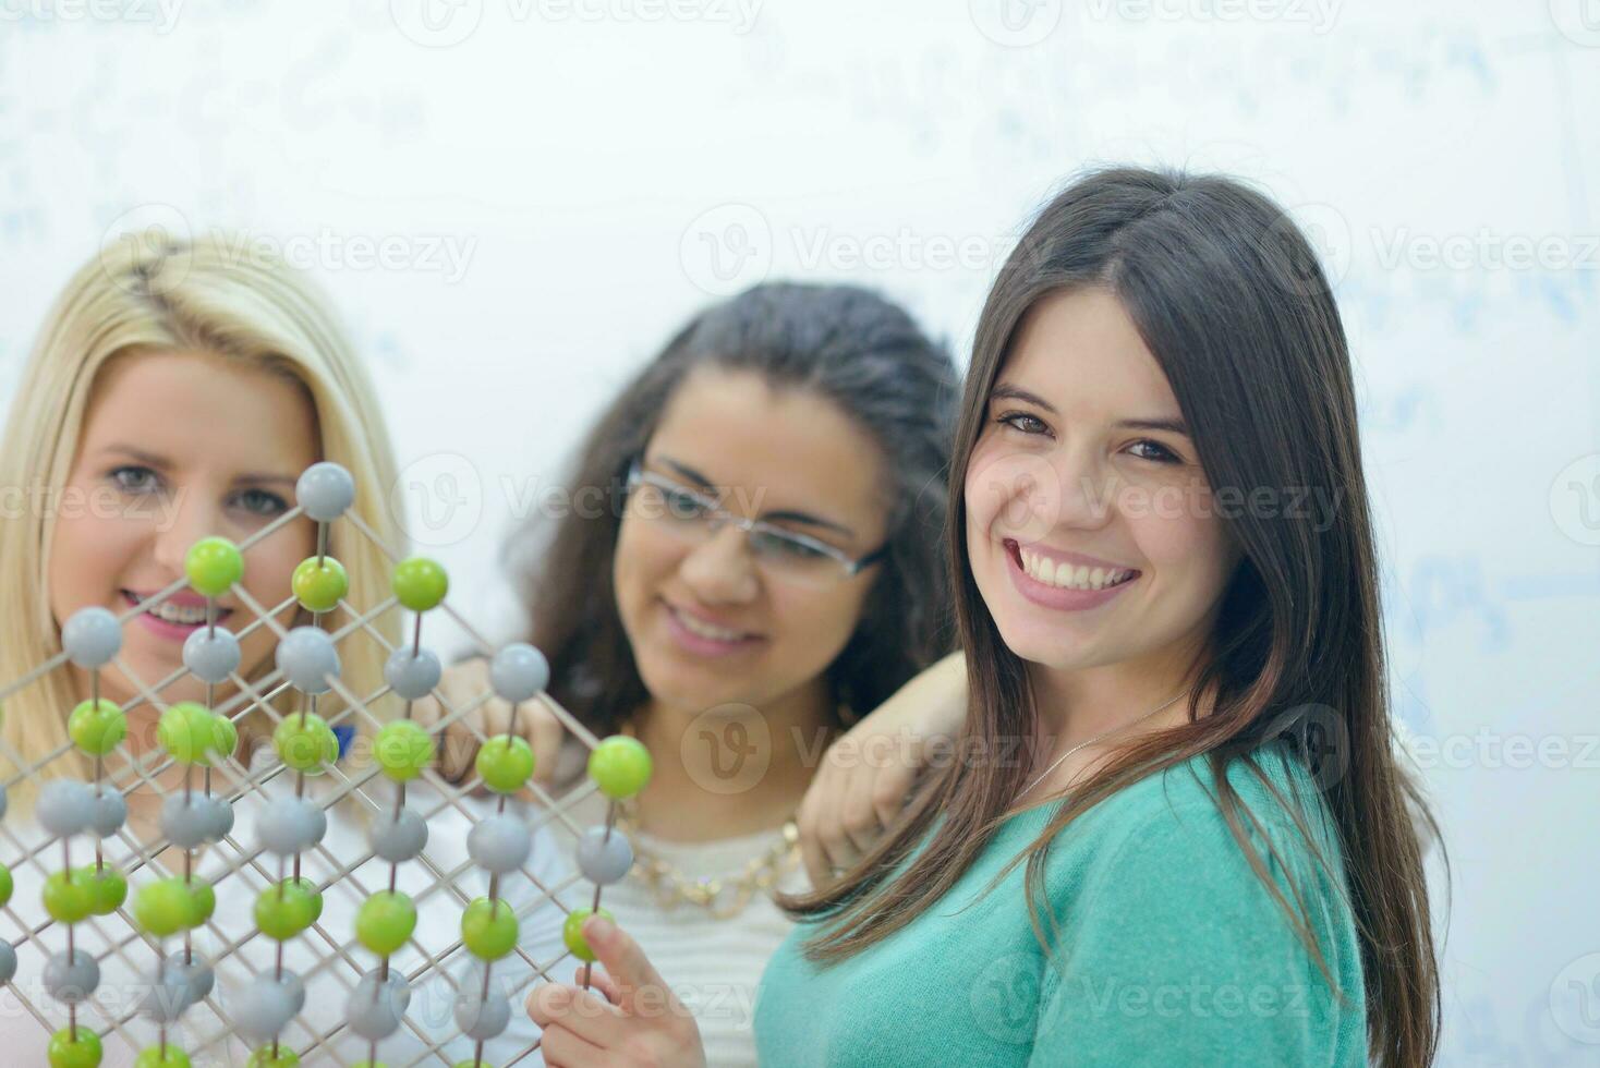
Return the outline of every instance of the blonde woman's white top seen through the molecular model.
{"type": "MultiPolygon", "coordinates": [[[[259,747],[251,761],[253,772],[270,769],[277,763],[277,755],[270,747],[259,747]]],[[[259,780],[259,774],[254,774],[259,780]]],[[[221,791],[227,775],[213,772],[213,787],[221,791]]],[[[195,774],[195,787],[200,783],[195,774]]],[[[373,807],[362,798],[349,795],[333,801],[346,787],[338,774],[325,774],[306,779],[306,795],[318,801],[333,804],[328,809],[328,831],[320,851],[302,854],[301,875],[315,879],[318,886],[334,878],[339,871],[336,865],[346,865],[365,859],[349,878],[341,878],[323,889],[323,911],[317,924],[283,943],[283,967],[296,972],[306,983],[306,1007],[285,1028],[283,1041],[294,1052],[301,1054],[306,1065],[350,1065],[368,1057],[368,1044],[354,1034],[346,1022],[346,1004],[357,978],[378,967],[376,954],[355,943],[355,913],[362,902],[373,892],[389,887],[387,862],[373,857],[366,844],[365,823],[360,809],[368,812],[373,807]],[[357,886],[358,884],[358,886],[357,886]],[[350,946],[347,956],[341,959],[336,946],[350,946]],[[330,1031],[336,1031],[325,1044],[310,1049],[314,1042],[330,1031]],[[307,1052],[309,1050],[309,1052],[307,1052]]],[[[264,785],[267,796],[283,796],[294,793],[294,772],[283,771],[264,785]]],[[[362,791],[373,801],[392,804],[394,785],[382,775],[376,775],[362,785],[362,791]]],[[[259,854],[251,863],[232,875],[227,870],[243,857],[256,851],[258,838],[253,827],[254,817],[264,804],[261,793],[250,793],[234,803],[234,846],[208,846],[197,854],[195,876],[218,879],[216,913],[210,924],[194,932],[194,951],[213,962],[218,988],[208,1001],[192,1006],[181,1017],[179,1023],[168,1030],[168,1041],[181,1046],[198,1068],[202,1065],[243,1065],[250,1055],[245,1041],[232,1034],[224,1017],[229,999],[254,977],[270,975],[275,967],[278,943],[266,935],[254,934],[243,945],[230,953],[224,950],[251,935],[254,927],[254,902],[259,891],[278,879],[278,859],[272,854],[259,854]]],[[[398,867],[395,889],[411,895],[418,908],[418,926],[411,942],[390,959],[390,967],[403,969],[413,975],[426,964],[422,946],[430,954],[438,954],[461,938],[461,913],[467,902],[488,892],[488,875],[474,867],[467,857],[467,831],[477,819],[496,809],[493,798],[462,798],[461,806],[445,807],[445,796],[424,780],[413,780],[406,785],[406,806],[424,814],[429,822],[429,839],[422,857],[405,862],[398,867]],[[450,886],[429,873],[424,857],[446,876],[458,873],[450,886]]],[[[123,831],[126,835],[126,830],[123,831]]],[[[45,1049],[50,1033],[67,1025],[67,1007],[51,998],[42,983],[45,961],[50,954],[66,950],[66,929],[62,924],[50,921],[46,916],[40,891],[46,875],[62,867],[61,843],[48,844],[32,860],[26,854],[45,843],[43,830],[32,820],[21,819],[19,814],[8,814],[0,820],[0,862],[6,863],[14,878],[14,894],[10,905],[0,910],[8,918],[0,921],[5,929],[3,937],[18,946],[18,974],[11,985],[0,988],[0,1034],[3,1034],[3,1063],[6,1065],[43,1065],[45,1049]],[[32,938],[27,932],[38,931],[32,938]],[[45,1017],[42,1025],[32,1007],[45,1017]],[[48,1030],[46,1030],[48,1026],[48,1030]]],[[[106,843],[107,863],[115,863],[126,873],[125,857],[130,846],[123,838],[106,843]]],[[[181,855],[178,857],[181,873],[181,855]]],[[[550,841],[547,830],[534,831],[533,854],[526,870],[541,879],[555,878],[560,871],[558,851],[550,841]]],[[[74,867],[91,865],[94,862],[94,843],[90,836],[75,836],[70,843],[70,862],[74,867]]],[[[171,862],[163,857],[163,863],[171,862]]],[[[291,868],[283,875],[291,875],[291,868]]],[[[88,921],[74,926],[77,948],[96,956],[101,966],[101,983],[85,1004],[78,1006],[80,1026],[93,1026],[104,1031],[114,1022],[117,1030],[102,1038],[106,1047],[106,1068],[122,1068],[133,1063],[138,1052],[157,1042],[157,1025],[142,1015],[134,1015],[139,1001],[155,967],[155,951],[133,924],[133,895],[144,883],[157,878],[158,873],[141,868],[128,878],[128,900],[120,913],[112,916],[91,916],[88,921]],[[120,951],[118,951],[120,950],[120,951]],[[123,1022],[126,1017],[126,1022],[123,1022]]],[[[526,883],[526,876],[522,876],[526,883]]],[[[522,926],[522,946],[538,959],[547,959],[560,953],[560,924],[563,916],[538,902],[528,902],[518,908],[522,926]]],[[[182,953],[182,937],[165,940],[168,953],[182,953]]],[[[490,975],[496,985],[506,983],[514,974],[525,969],[515,967],[517,954],[496,961],[490,975]]],[[[477,961],[456,948],[442,961],[443,972],[437,967],[427,969],[411,983],[411,1002],[400,1030],[378,1044],[378,1058],[400,1068],[402,1065],[453,1065],[462,1058],[470,1060],[474,1042],[462,1038],[456,1028],[453,1009],[456,983],[462,982],[467,969],[477,967],[477,961]],[[448,974],[448,975],[446,975],[448,974]],[[434,1049],[434,1046],[440,1046],[434,1049]]],[[[502,986],[502,990],[509,990],[502,986]]],[[[510,1025],[499,1038],[485,1044],[483,1060],[486,1063],[506,1065],[526,1050],[538,1038],[538,1028],[528,1018],[522,1002],[526,991],[510,991],[512,1010],[510,1025]]],[[[539,1065],[542,1058],[533,1052],[518,1065],[539,1065]]]]}

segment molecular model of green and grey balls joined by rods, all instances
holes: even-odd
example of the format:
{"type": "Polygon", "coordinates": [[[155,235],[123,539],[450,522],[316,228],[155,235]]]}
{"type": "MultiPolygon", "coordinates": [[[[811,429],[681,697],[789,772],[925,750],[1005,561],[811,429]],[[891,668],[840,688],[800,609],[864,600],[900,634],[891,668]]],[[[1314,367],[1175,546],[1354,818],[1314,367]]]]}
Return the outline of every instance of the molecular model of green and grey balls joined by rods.
{"type": "MultiPolygon", "coordinates": [[[[0,1002],[14,999],[32,1017],[11,1014],[0,1026],[0,1062],[22,1063],[10,1036],[37,1022],[54,1068],[101,1065],[112,1038],[138,1050],[138,1068],[230,1063],[230,1044],[243,1044],[253,1068],[486,1065],[485,1044],[523,1015],[534,982],[573,958],[589,985],[594,954],[581,924],[605,913],[602,887],[634,865],[614,822],[618,803],[650,780],[650,755],[632,737],[590,734],[546,692],[550,670],[538,649],[483,641],[445,604],[443,568],[398,558],[350,510],[354,500],[349,472],[310,467],[286,515],[238,545],[197,542],[184,579],[122,614],[75,612],[62,624],[59,656],[0,686],[3,705],[54,671],[77,668],[90,679],[88,699],[62,710],[70,745],[29,761],[0,742],[11,767],[0,780],[0,913],[21,932],[0,935],[0,1002]],[[294,569],[282,604],[259,604],[242,582],[251,548],[301,516],[317,524],[317,552],[294,569]],[[328,552],[334,524],[341,545],[366,539],[392,564],[386,600],[350,603],[350,576],[328,552]],[[174,596],[195,608],[170,608],[150,625],[171,625],[179,612],[192,630],[182,668],[141,679],[122,656],[123,628],[174,596]],[[376,620],[400,611],[414,624],[387,632],[410,635],[394,646],[376,620]],[[219,624],[224,612],[230,627],[219,624]],[[437,691],[442,662],[422,644],[434,612],[491,657],[490,687],[459,707],[437,691]],[[306,614],[309,625],[282,622],[306,614]],[[245,678],[240,640],[261,628],[275,638],[272,670],[245,678]],[[355,641],[381,643],[376,692],[352,692],[342,678],[341,649],[355,641]],[[138,694],[131,702],[101,695],[107,668],[128,679],[138,694]],[[165,702],[160,694],[184,676],[203,684],[205,699],[165,702]],[[413,719],[413,702],[429,695],[443,715],[424,726],[413,719]],[[474,726],[477,761],[450,783],[438,774],[443,731],[491,695],[510,703],[506,732],[485,737],[474,726]],[[533,751],[515,729],[530,702],[542,702],[589,750],[589,782],[560,799],[533,780],[533,751]],[[157,724],[155,742],[139,753],[130,748],[134,711],[157,724]],[[270,729],[266,759],[240,750],[246,716],[270,729]],[[341,759],[358,732],[371,739],[371,759],[341,759]],[[93,775],[46,771],[58,759],[75,769],[91,759],[93,775]],[[8,820],[6,791],[24,780],[38,787],[32,822],[21,812],[8,820]],[[568,809],[595,790],[610,799],[608,819],[579,828],[568,809]],[[525,806],[520,798],[530,795],[525,806]],[[154,838],[131,833],[131,801],[157,815],[154,838]],[[461,833],[445,830],[456,827],[461,833]],[[546,827],[550,835],[538,838],[546,827]],[[555,841],[555,833],[566,836],[573,863],[562,857],[562,878],[552,881],[530,860],[538,860],[536,839],[555,841]],[[451,857],[462,839],[464,855],[451,857]],[[387,887],[368,886],[373,871],[387,887]],[[526,902],[504,897],[509,878],[533,887],[526,902]],[[482,883],[486,892],[474,889],[482,883]],[[336,891],[350,902],[342,915],[336,891]],[[587,903],[568,908],[563,895],[587,903]],[[539,916],[555,916],[549,959],[533,959],[520,937],[539,916]],[[122,990],[136,996],[98,996],[115,985],[102,983],[112,974],[126,975],[122,990]],[[424,1018],[424,991],[446,1009],[424,1018]],[[470,1057],[446,1055],[462,1044],[470,1057]],[[379,1062],[386,1046],[402,1057],[379,1062]]],[[[536,1038],[499,1068],[534,1049],[536,1038]]]]}

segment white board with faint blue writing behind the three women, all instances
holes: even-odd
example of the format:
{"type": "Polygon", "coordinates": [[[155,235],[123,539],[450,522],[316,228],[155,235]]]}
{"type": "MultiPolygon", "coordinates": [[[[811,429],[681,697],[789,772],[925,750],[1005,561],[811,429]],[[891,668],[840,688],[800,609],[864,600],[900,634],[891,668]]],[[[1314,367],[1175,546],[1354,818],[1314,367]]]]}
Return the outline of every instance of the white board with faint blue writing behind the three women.
{"type": "Polygon", "coordinates": [[[0,0],[0,395],[107,232],[286,241],[504,620],[515,513],[715,293],[850,278],[963,352],[1074,168],[1256,179],[1339,277],[1397,708],[1443,747],[1440,1063],[1600,1062],[1600,3],[1002,2],[0,0]]]}

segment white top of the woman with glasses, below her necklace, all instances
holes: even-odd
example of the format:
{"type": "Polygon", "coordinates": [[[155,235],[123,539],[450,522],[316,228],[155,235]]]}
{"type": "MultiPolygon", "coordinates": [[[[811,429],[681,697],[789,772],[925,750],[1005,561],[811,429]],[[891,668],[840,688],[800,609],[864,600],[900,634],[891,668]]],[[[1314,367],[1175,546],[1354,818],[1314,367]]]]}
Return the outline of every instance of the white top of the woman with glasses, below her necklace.
{"type": "MultiPolygon", "coordinates": [[[[603,825],[606,804],[605,796],[590,793],[565,807],[582,828],[603,825]]],[[[538,809],[531,809],[530,819],[539,819],[536,812],[538,809]]],[[[565,827],[557,831],[558,841],[570,838],[565,827]]],[[[704,843],[635,835],[635,860],[643,849],[685,878],[720,876],[726,883],[741,876],[752,859],[763,857],[781,838],[779,830],[704,843]]],[[[571,865],[570,847],[565,857],[571,865]]],[[[587,907],[594,900],[594,884],[576,870],[570,870],[563,883],[568,887],[560,894],[565,907],[587,907]]],[[[792,851],[778,889],[789,894],[811,889],[798,847],[792,851]]],[[[525,879],[517,879],[506,889],[514,902],[531,892],[533,887],[525,879]]],[[[755,1015],[755,988],[768,958],[794,927],[794,921],[776,902],[768,894],[757,892],[744,911],[728,919],[717,919],[709,910],[690,902],[662,905],[635,863],[622,883],[602,891],[600,905],[616,916],[618,924],[638,942],[678,999],[694,1012],[706,1044],[706,1063],[714,1068],[754,1066],[755,1038],[750,1022],[755,1015]]],[[[533,948],[530,954],[534,954],[533,948]]],[[[571,983],[574,964],[579,962],[568,958],[552,978],[571,983]]]]}

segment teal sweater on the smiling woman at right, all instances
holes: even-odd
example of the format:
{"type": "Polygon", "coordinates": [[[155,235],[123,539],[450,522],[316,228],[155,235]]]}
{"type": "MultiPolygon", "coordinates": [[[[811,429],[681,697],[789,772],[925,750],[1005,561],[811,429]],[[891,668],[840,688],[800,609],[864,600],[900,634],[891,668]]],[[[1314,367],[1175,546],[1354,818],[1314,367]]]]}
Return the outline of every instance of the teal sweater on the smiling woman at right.
{"type": "Polygon", "coordinates": [[[1270,878],[1291,903],[1286,873],[1304,895],[1342,1001],[1251,870],[1195,759],[1118,791],[1056,838],[1045,868],[1061,921],[1054,961],[1029,926],[1026,865],[979,895],[1059,803],[1010,817],[944,897],[843,962],[806,961],[802,942],[819,927],[798,924],[757,991],[760,1063],[1365,1065],[1362,959],[1331,819],[1299,761],[1262,753],[1258,763],[1298,798],[1331,863],[1330,876],[1248,769],[1229,769],[1283,859],[1267,862],[1270,878]]]}

